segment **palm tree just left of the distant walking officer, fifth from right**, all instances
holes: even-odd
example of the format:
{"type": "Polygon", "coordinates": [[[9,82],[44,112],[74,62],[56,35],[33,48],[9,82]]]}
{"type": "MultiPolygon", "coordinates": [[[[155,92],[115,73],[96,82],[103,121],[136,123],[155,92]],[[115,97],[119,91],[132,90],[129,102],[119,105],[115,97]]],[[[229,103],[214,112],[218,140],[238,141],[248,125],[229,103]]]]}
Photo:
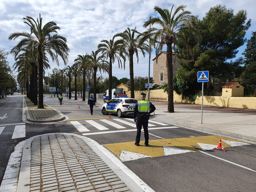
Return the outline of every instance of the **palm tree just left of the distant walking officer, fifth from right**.
{"type": "Polygon", "coordinates": [[[88,66],[90,65],[89,55],[78,55],[77,58],[74,60],[76,65],[79,65],[79,69],[83,72],[83,101],[85,101],[85,75],[88,66]]]}

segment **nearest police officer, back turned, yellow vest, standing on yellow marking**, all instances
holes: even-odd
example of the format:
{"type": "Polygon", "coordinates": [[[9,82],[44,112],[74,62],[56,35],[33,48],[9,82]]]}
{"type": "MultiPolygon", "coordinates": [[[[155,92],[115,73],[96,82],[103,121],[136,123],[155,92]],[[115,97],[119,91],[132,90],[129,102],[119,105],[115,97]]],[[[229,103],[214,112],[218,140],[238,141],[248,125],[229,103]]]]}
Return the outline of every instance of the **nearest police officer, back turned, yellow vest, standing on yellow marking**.
{"type": "Polygon", "coordinates": [[[155,111],[155,106],[150,102],[145,100],[146,94],[141,93],[141,100],[135,104],[134,108],[134,121],[137,127],[137,135],[135,146],[140,146],[141,139],[141,126],[143,125],[144,137],[145,137],[145,146],[148,146],[148,119],[149,114],[155,111]]]}

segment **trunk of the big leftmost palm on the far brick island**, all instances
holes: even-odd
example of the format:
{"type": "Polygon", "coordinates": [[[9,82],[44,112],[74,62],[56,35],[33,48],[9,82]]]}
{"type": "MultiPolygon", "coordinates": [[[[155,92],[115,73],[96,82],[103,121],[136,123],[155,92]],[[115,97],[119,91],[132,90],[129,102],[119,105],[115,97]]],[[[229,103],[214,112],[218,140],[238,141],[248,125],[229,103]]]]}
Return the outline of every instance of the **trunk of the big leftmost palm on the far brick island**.
{"type": "Polygon", "coordinates": [[[44,109],[44,95],[43,95],[43,54],[41,48],[38,47],[39,52],[39,81],[38,81],[38,108],[44,109]]]}

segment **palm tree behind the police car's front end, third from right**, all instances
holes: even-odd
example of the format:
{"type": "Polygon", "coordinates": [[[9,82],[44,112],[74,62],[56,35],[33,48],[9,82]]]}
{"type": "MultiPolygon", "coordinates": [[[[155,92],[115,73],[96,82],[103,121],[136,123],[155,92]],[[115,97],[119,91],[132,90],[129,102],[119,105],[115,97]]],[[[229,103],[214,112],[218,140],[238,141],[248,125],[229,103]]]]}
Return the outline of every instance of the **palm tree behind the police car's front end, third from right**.
{"type": "MultiPolygon", "coordinates": [[[[102,43],[98,45],[98,50],[102,53],[104,57],[107,59],[109,58],[108,62],[108,98],[109,100],[112,98],[112,63],[115,62],[115,60],[118,61],[118,67],[122,68],[122,62],[120,59],[120,52],[119,48],[121,46],[121,40],[114,40],[115,36],[112,38],[112,40],[101,40],[102,43]]],[[[125,58],[123,58],[125,59],[125,58]]],[[[125,69],[125,65],[124,65],[125,69]]]]}

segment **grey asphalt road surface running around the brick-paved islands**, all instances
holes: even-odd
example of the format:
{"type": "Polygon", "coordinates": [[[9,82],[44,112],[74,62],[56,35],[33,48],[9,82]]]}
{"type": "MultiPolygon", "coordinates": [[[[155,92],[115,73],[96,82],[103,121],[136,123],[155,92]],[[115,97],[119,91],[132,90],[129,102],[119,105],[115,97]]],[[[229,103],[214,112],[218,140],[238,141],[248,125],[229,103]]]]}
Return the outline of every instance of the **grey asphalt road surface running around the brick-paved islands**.
{"type": "MultiPolygon", "coordinates": [[[[88,113],[89,107],[87,105],[87,102],[64,99],[64,104],[60,106],[56,98],[49,97],[45,97],[44,102],[61,111],[61,113],[65,114],[70,121],[62,121],[48,124],[26,124],[26,137],[19,139],[11,139],[14,127],[11,128],[10,126],[10,128],[8,128],[7,130],[5,128],[0,134],[0,180],[3,177],[3,172],[7,165],[8,157],[10,156],[14,146],[18,142],[35,135],[50,132],[69,132],[80,135],[85,134],[84,136],[94,139],[99,144],[106,147],[114,146],[119,148],[121,147],[122,149],[122,146],[128,146],[128,150],[138,151],[141,154],[143,152],[148,152],[147,150],[149,149],[152,149],[152,151],[149,150],[149,152],[151,152],[152,154],[154,154],[154,152],[157,153],[154,150],[156,150],[157,148],[161,148],[159,147],[161,145],[158,146],[159,142],[167,142],[166,145],[168,145],[168,142],[178,142],[180,146],[183,146],[183,148],[187,147],[186,149],[191,150],[192,152],[172,154],[168,156],[160,155],[152,158],[140,158],[123,162],[124,165],[131,169],[156,192],[255,191],[256,172],[245,169],[244,167],[256,170],[256,145],[227,147],[225,148],[227,152],[224,152],[222,150],[204,151],[210,155],[213,155],[214,157],[221,158],[216,159],[205,153],[198,152],[198,146],[196,145],[196,143],[195,146],[189,144],[189,142],[192,142],[192,139],[194,139],[193,142],[202,142],[209,140],[210,137],[214,137],[211,134],[197,132],[182,127],[174,127],[172,125],[159,126],[155,124],[155,127],[159,127],[160,129],[153,129],[154,126],[152,126],[152,129],[149,131],[149,148],[143,146],[144,142],[141,142],[141,146],[137,147],[134,145],[136,136],[135,127],[118,122],[115,119],[120,118],[115,115],[111,115],[111,117],[113,118],[112,122],[118,123],[121,126],[128,127],[123,129],[123,132],[117,132],[116,129],[113,129],[112,126],[101,122],[99,119],[93,119],[108,117],[102,115],[100,105],[94,107],[94,115],[90,115],[90,113],[88,113]],[[95,128],[95,126],[90,124],[90,120],[101,123],[101,125],[104,125],[109,130],[98,130],[97,128],[95,128]],[[74,125],[71,123],[74,121],[77,121],[82,126],[85,126],[88,131],[79,132],[78,129],[75,128],[74,125]],[[162,127],[174,128],[163,129],[162,127]],[[222,159],[236,163],[237,165],[223,161],[222,159]]],[[[155,105],[157,107],[157,104],[155,105]]],[[[21,98],[8,98],[0,100],[0,117],[5,115],[5,113],[7,112],[7,116],[9,116],[9,114],[13,114],[12,119],[8,119],[8,117],[6,119],[0,120],[0,127],[3,124],[7,124],[5,123],[5,121],[8,122],[8,124],[11,124],[12,122],[21,122],[21,108],[21,98]],[[18,110],[18,112],[11,112],[12,110],[18,110]]],[[[128,118],[131,119],[132,117],[128,118]]],[[[132,121],[128,119],[123,120],[132,123],[132,121]]],[[[152,120],[154,120],[153,117],[152,120]]],[[[142,140],[144,140],[143,133],[141,133],[141,141],[142,140]]],[[[176,146],[179,145],[177,144],[176,146]]],[[[217,145],[218,143],[216,143],[216,146],[217,145]]]]}

